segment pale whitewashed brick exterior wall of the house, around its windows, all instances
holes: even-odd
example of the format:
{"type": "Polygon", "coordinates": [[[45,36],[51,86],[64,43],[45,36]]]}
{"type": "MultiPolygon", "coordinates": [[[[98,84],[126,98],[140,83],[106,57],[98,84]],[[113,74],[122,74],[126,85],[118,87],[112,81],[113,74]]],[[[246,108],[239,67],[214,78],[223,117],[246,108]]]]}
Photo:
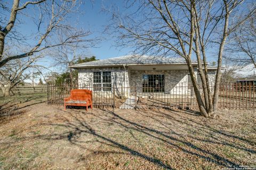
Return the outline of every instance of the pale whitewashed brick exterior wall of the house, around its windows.
{"type": "MultiPolygon", "coordinates": [[[[129,87],[136,87],[137,92],[142,92],[143,74],[164,74],[164,89],[166,94],[186,94],[190,88],[188,70],[130,70],[127,67],[94,67],[78,69],[78,86],[80,88],[90,87],[93,90],[93,72],[111,71],[111,90],[115,86],[117,96],[127,96],[130,94],[129,87]]],[[[196,78],[197,69],[195,68],[196,78]]],[[[209,70],[210,82],[214,83],[215,71],[209,70]]],[[[198,83],[200,80],[198,79],[198,83]]]]}

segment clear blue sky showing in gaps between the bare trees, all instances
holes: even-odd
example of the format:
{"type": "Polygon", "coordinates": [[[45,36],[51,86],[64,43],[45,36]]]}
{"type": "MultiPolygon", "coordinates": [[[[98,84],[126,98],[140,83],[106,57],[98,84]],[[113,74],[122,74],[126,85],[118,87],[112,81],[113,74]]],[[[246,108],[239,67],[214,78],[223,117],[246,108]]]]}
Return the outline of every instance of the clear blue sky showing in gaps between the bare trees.
{"type": "MultiPolygon", "coordinates": [[[[5,1],[9,3],[9,6],[11,7],[12,1],[5,1]]],[[[21,4],[24,4],[26,0],[21,0],[21,4]]],[[[80,10],[83,12],[82,14],[76,14],[73,15],[69,22],[73,23],[75,27],[82,27],[83,29],[89,29],[92,31],[91,37],[101,37],[102,40],[99,44],[97,44],[97,48],[88,48],[84,52],[84,56],[96,56],[98,59],[105,59],[110,57],[117,57],[117,56],[123,56],[127,54],[131,54],[133,48],[129,47],[122,47],[117,48],[116,45],[116,39],[113,38],[111,35],[104,34],[103,31],[105,30],[106,25],[111,23],[110,18],[111,15],[107,12],[103,12],[102,8],[109,8],[112,5],[115,5],[118,7],[118,10],[120,12],[131,12],[131,10],[126,11],[127,9],[125,6],[125,0],[92,0],[92,1],[84,1],[84,4],[82,4],[80,10]]],[[[30,11],[31,5],[25,9],[24,13],[28,15],[32,15],[36,13],[35,11],[30,11]]],[[[36,9],[34,9],[36,10],[36,9]]],[[[7,19],[9,18],[10,13],[6,13],[7,19]]],[[[23,24],[21,27],[18,28],[18,31],[22,32],[23,34],[27,34],[31,36],[31,33],[36,30],[35,24],[31,22],[31,19],[29,17],[23,18],[26,24],[23,24]]],[[[31,37],[33,37],[32,35],[31,37]]],[[[34,37],[33,37],[34,38],[34,37]]],[[[35,41],[34,41],[35,42],[35,41]]],[[[33,43],[33,40],[30,41],[30,43],[33,43]]],[[[211,50],[210,50],[211,52],[211,50]]],[[[20,52],[18,52],[20,53],[20,52]]],[[[212,57],[210,57],[210,60],[213,60],[212,57]]],[[[49,60],[44,60],[45,65],[48,65],[49,60]]]]}

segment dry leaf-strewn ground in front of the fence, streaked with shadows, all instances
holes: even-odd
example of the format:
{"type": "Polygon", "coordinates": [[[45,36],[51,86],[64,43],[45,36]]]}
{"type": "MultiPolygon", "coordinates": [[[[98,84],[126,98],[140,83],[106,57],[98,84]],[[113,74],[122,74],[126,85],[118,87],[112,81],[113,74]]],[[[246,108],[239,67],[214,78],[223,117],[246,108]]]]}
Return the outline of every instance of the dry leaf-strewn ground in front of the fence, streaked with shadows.
{"type": "Polygon", "coordinates": [[[256,113],[67,109],[0,121],[0,169],[256,168],[256,113]]]}

